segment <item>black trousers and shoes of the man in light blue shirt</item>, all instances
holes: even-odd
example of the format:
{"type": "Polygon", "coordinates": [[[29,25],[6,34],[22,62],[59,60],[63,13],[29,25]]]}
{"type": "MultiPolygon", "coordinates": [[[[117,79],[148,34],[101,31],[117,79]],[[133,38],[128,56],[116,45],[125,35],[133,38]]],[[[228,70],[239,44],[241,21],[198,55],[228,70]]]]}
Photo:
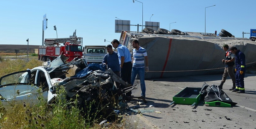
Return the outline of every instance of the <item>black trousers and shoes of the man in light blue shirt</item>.
{"type": "MultiPolygon", "coordinates": [[[[121,68],[121,79],[127,82],[128,84],[131,84],[131,76],[132,76],[132,68],[133,64],[132,62],[125,62],[123,63],[123,67],[121,68]]],[[[121,84],[121,88],[126,88],[124,85],[121,84]]],[[[126,93],[127,96],[131,96],[132,91],[129,91],[126,93]]]]}

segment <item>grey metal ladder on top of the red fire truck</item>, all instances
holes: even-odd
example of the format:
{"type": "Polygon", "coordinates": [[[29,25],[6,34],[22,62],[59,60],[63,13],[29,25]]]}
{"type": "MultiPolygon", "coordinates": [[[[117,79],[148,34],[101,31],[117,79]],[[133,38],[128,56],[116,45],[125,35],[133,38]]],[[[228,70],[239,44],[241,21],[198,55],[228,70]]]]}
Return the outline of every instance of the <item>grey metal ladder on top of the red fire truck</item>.
{"type": "Polygon", "coordinates": [[[45,39],[45,45],[56,45],[60,43],[70,42],[72,44],[81,44],[82,37],[71,38],[58,38],[58,39],[45,39]]]}

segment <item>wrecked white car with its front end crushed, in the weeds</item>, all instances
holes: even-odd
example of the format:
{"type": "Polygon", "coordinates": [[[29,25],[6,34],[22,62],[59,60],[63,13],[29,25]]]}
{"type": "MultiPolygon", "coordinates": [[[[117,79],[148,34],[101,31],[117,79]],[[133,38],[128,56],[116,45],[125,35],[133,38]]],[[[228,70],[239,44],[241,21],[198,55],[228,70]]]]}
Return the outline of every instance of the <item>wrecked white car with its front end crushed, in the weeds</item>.
{"type": "Polygon", "coordinates": [[[110,99],[118,99],[122,94],[136,88],[128,86],[111,69],[104,71],[96,66],[88,67],[84,58],[74,59],[66,64],[65,60],[65,56],[59,56],[52,62],[44,62],[43,66],[1,77],[0,97],[3,105],[9,105],[12,100],[26,100],[36,104],[39,102],[39,94],[47,99],[48,104],[52,104],[57,96],[56,88],[61,85],[66,89],[67,99],[79,94],[77,99],[80,107],[85,106],[85,101],[94,100],[97,103],[100,97],[103,105],[107,105],[110,99]],[[75,75],[66,78],[68,70],[74,66],[77,67],[75,75]],[[114,81],[128,88],[116,89],[114,81]]]}

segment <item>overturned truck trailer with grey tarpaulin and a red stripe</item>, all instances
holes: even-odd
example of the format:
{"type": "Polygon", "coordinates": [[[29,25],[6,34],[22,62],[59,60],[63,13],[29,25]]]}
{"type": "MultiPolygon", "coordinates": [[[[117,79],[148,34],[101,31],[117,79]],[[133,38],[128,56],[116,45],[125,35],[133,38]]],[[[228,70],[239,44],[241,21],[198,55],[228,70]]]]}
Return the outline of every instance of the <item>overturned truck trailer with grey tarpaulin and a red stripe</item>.
{"type": "Polygon", "coordinates": [[[246,67],[256,62],[256,42],[247,38],[219,37],[185,32],[185,35],[122,31],[119,42],[132,52],[132,40],[146,49],[150,71],[145,78],[221,74],[225,64],[223,44],[235,46],[246,56],[246,67]]]}

